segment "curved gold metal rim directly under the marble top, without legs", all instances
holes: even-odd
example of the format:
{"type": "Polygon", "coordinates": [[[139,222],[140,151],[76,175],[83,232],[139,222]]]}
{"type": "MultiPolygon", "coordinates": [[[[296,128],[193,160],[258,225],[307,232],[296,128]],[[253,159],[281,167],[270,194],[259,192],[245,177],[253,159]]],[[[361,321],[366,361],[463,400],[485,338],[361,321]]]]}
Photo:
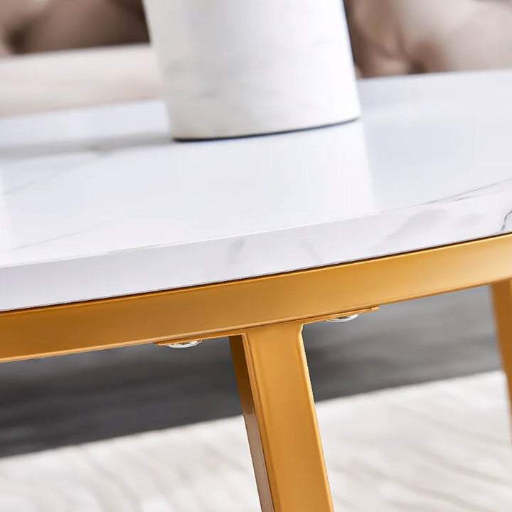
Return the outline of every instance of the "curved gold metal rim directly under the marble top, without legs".
{"type": "Polygon", "coordinates": [[[243,334],[512,278],[512,235],[128,297],[0,313],[0,361],[243,334]],[[198,311],[201,311],[198,314],[198,311]]]}

